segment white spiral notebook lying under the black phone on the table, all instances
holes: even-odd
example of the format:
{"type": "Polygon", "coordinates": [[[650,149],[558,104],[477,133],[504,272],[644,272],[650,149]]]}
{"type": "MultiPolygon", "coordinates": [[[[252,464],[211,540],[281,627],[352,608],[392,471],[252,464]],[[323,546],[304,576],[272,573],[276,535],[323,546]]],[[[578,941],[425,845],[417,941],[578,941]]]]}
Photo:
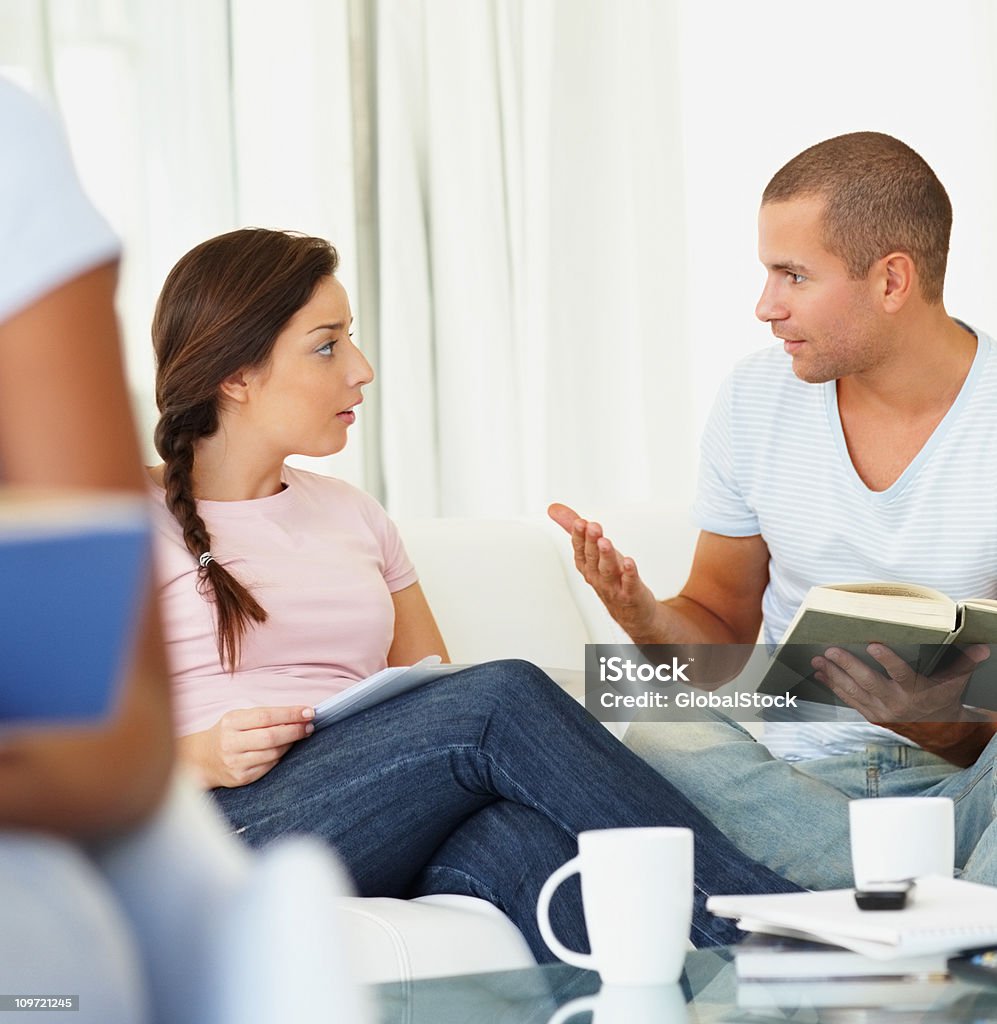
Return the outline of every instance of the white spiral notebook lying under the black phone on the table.
{"type": "Polygon", "coordinates": [[[997,888],[957,879],[918,879],[903,910],[860,910],[853,889],[710,896],[706,909],[746,932],[790,932],[879,959],[997,944],[997,888]]]}

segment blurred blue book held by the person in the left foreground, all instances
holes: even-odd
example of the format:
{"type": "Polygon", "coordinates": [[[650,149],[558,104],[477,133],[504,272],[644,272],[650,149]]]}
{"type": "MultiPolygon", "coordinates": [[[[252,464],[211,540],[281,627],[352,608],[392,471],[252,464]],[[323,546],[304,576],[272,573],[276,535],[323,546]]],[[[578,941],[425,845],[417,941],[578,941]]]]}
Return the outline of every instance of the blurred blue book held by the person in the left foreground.
{"type": "Polygon", "coordinates": [[[149,542],[140,496],[0,489],[0,730],[111,712],[149,542]]]}

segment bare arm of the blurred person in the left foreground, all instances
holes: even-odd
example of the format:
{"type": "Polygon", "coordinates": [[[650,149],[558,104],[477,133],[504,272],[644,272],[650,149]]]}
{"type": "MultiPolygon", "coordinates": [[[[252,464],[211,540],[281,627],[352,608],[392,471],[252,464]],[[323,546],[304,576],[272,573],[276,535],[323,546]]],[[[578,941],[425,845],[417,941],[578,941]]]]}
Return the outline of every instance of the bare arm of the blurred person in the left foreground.
{"type": "MultiPolygon", "coordinates": [[[[143,492],[114,312],[117,269],[81,274],[0,324],[0,468],[7,482],[143,492]]],[[[0,824],[92,836],[157,805],[172,742],[151,583],[110,722],[0,744],[0,824]]]]}

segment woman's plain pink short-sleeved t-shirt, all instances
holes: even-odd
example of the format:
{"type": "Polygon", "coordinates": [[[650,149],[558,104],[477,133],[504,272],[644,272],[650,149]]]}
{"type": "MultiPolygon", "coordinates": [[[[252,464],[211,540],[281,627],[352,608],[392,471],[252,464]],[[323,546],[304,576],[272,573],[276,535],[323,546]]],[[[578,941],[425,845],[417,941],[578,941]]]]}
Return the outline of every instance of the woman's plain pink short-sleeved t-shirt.
{"type": "Polygon", "coordinates": [[[342,480],[284,468],[286,488],[246,502],[198,502],[211,551],[266,609],[234,675],[218,656],[198,563],[155,488],[156,567],[180,735],[234,708],[315,705],[387,665],[391,594],[417,582],[395,524],[342,480]]]}

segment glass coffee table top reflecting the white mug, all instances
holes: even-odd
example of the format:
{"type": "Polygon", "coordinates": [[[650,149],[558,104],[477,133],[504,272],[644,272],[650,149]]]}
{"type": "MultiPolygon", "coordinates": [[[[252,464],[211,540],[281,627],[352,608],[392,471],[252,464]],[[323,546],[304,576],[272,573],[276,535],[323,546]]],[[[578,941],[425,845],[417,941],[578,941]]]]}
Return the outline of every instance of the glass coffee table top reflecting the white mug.
{"type": "Polygon", "coordinates": [[[997,1020],[997,988],[960,981],[822,982],[739,987],[729,948],[698,949],[670,989],[603,993],[599,977],[563,964],[521,971],[378,985],[382,1024],[976,1024],[997,1020]],[[607,999],[609,1001],[607,1001],[607,999]],[[577,1014],[563,1008],[578,1002],[577,1014]],[[829,1004],[846,1005],[829,1005],[829,1004]],[[588,1007],[588,1009],[583,1009],[588,1007]]]}

